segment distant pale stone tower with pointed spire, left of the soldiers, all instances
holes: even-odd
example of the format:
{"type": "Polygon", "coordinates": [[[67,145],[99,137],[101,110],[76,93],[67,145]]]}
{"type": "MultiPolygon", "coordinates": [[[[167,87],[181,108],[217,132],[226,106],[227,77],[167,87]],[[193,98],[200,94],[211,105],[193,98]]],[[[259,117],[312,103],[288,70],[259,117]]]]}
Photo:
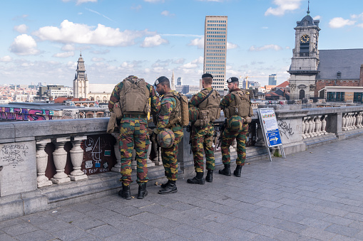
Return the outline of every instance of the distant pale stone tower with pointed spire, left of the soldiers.
{"type": "Polygon", "coordinates": [[[84,60],[82,53],[79,55],[76,76],[73,80],[73,97],[87,98],[88,97],[88,79],[86,69],[84,68],[84,60]]]}

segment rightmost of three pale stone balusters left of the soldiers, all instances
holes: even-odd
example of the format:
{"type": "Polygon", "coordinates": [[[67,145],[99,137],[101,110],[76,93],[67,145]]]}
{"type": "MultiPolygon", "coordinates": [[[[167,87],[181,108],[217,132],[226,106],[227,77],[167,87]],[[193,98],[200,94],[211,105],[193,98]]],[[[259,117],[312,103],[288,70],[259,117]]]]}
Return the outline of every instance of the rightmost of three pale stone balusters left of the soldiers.
{"type": "Polygon", "coordinates": [[[71,175],[68,176],[71,178],[71,181],[87,179],[88,176],[83,171],[81,171],[81,165],[83,161],[83,149],[81,148],[81,143],[83,140],[87,139],[87,136],[74,136],[72,139],[73,147],[69,153],[71,154],[73,171],[71,172],[71,175]]]}

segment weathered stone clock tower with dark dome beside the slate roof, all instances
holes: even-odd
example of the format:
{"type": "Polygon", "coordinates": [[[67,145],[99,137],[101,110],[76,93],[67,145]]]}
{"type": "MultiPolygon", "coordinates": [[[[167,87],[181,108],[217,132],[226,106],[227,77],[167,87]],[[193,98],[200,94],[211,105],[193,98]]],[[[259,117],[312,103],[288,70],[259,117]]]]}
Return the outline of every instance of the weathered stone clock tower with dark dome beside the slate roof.
{"type": "Polygon", "coordinates": [[[290,70],[290,100],[314,97],[315,77],[319,71],[319,20],[307,16],[297,21],[295,29],[295,48],[292,50],[290,70]]]}

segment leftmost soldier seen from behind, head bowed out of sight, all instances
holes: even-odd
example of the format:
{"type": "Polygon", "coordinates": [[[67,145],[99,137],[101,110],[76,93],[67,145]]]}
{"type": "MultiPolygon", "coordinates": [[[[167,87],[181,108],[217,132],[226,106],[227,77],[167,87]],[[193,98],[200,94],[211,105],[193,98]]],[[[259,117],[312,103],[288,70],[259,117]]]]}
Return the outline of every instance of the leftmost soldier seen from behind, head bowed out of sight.
{"type": "MultiPolygon", "coordinates": [[[[138,95],[138,94],[136,94],[138,95]]],[[[118,193],[122,198],[131,199],[130,184],[133,182],[131,179],[131,156],[133,154],[133,149],[136,151],[136,161],[137,161],[137,183],[139,184],[138,198],[142,199],[148,194],[146,191],[146,183],[148,182],[148,167],[147,161],[147,151],[149,146],[149,134],[148,134],[148,121],[147,113],[143,112],[131,112],[129,109],[125,112],[124,107],[126,103],[129,102],[128,106],[141,105],[141,108],[148,107],[148,99],[150,98],[151,112],[157,113],[160,109],[160,100],[155,93],[155,89],[152,85],[149,85],[143,79],[138,79],[138,77],[130,75],[122,82],[119,82],[115,86],[111,94],[110,101],[108,102],[108,109],[113,112],[113,108],[116,102],[120,102],[121,110],[123,111],[123,116],[120,124],[120,151],[121,151],[121,182],[122,189],[118,193]],[[140,80],[139,87],[136,90],[139,93],[144,93],[143,100],[140,102],[133,103],[127,97],[131,96],[132,99],[135,94],[131,89],[127,89],[131,83],[140,80]],[[126,86],[125,86],[126,85],[126,86]],[[127,95],[125,92],[128,92],[127,95]]],[[[133,108],[133,107],[131,107],[133,108]]]]}

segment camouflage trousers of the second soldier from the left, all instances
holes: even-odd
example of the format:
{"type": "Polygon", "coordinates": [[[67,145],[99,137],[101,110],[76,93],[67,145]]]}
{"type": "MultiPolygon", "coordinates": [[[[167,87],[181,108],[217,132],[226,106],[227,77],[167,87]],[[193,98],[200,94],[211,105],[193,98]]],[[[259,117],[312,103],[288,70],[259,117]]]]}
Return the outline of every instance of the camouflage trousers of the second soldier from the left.
{"type": "Polygon", "coordinates": [[[176,181],[178,179],[178,146],[183,139],[183,128],[174,127],[173,129],[175,140],[173,146],[170,148],[161,148],[161,159],[165,169],[165,176],[170,181],[176,181]]]}

